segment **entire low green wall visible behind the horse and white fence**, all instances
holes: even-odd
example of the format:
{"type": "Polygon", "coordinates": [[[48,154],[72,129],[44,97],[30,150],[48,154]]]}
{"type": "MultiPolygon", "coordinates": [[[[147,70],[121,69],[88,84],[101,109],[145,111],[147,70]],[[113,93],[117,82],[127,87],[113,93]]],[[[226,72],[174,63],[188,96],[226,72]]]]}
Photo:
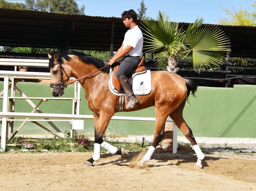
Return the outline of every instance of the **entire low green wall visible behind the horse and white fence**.
{"type": "MultiPolygon", "coordinates": [[[[17,87],[28,97],[51,97],[48,84],[19,82],[17,87]]],[[[0,91],[3,82],[0,82],[0,91]]],[[[73,97],[74,86],[65,90],[64,97],[73,97]]],[[[18,94],[16,94],[18,96],[18,94]]],[[[63,97],[62,96],[62,97],[63,97]]],[[[81,89],[80,114],[92,115],[85,92],[81,89]]],[[[35,104],[39,100],[33,100],[35,104]]],[[[184,119],[193,130],[194,136],[204,137],[256,137],[256,86],[235,85],[234,88],[199,87],[196,97],[190,96],[184,108],[184,119]],[[190,103],[190,104],[189,104],[190,103]]],[[[2,108],[2,99],[0,99],[2,108]]],[[[72,101],[43,101],[39,108],[45,113],[72,113],[72,101]]],[[[16,99],[15,111],[31,112],[32,107],[25,100],[16,99]]],[[[2,111],[2,109],[1,109],[2,111]]],[[[116,116],[155,117],[154,107],[134,112],[119,112],[116,116]]],[[[47,122],[39,122],[50,128],[47,122]]],[[[62,131],[70,130],[69,122],[54,122],[62,131]]],[[[15,121],[15,129],[20,121],[15,121]]],[[[0,127],[1,128],[1,127],[0,127]]],[[[51,128],[50,128],[51,129],[51,128]]],[[[85,119],[84,130],[78,133],[94,134],[93,120],[85,119]]],[[[31,122],[26,122],[18,135],[47,134],[45,130],[31,122]]],[[[153,135],[154,122],[111,120],[107,134],[112,135],[153,135]]],[[[178,135],[182,135],[178,131],[178,135]]]]}

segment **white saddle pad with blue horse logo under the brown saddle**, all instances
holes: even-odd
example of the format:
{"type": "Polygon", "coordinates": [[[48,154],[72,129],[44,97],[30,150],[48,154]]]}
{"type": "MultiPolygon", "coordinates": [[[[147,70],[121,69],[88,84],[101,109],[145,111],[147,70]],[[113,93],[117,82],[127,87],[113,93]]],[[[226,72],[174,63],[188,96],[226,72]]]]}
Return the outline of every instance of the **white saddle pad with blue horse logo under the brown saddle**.
{"type": "MultiPolygon", "coordinates": [[[[134,95],[146,95],[151,92],[151,73],[150,70],[147,70],[147,72],[143,73],[135,73],[132,75],[132,89],[134,95]]],[[[123,93],[120,93],[118,90],[114,88],[114,85],[112,83],[112,75],[113,71],[110,69],[110,77],[109,77],[109,89],[110,91],[115,95],[126,95],[123,93]]]]}

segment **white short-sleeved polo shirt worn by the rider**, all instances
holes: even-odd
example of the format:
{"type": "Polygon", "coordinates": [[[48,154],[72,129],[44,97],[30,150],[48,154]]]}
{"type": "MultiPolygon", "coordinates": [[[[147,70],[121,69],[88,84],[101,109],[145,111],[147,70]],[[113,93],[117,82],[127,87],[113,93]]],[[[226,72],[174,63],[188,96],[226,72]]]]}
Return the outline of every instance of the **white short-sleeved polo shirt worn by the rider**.
{"type": "Polygon", "coordinates": [[[142,55],[142,47],[143,47],[143,34],[139,29],[138,25],[129,29],[124,35],[123,41],[124,47],[127,45],[133,47],[133,49],[128,53],[129,56],[139,56],[142,55]]]}

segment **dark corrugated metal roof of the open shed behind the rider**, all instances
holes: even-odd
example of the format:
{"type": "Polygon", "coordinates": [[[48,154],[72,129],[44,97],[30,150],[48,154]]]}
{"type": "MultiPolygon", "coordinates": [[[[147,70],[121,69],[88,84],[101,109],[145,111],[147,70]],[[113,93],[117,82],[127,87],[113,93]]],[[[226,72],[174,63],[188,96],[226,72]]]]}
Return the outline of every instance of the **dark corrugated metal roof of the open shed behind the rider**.
{"type": "MultiPolygon", "coordinates": [[[[122,18],[0,9],[0,46],[110,51],[112,25],[117,51],[127,31],[122,18]]],[[[216,26],[231,40],[231,57],[256,57],[256,27],[216,26]]]]}

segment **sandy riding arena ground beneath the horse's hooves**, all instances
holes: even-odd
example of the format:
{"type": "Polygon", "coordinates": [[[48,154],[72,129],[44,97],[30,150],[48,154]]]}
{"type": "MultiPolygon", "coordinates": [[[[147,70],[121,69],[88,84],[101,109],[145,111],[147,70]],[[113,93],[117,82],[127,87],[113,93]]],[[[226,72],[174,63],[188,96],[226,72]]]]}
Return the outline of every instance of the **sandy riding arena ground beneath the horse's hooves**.
{"type": "Polygon", "coordinates": [[[130,167],[138,155],[105,153],[84,167],[92,153],[0,153],[0,190],[256,190],[255,157],[209,154],[194,169],[193,153],[154,153],[146,168],[130,167]]]}

